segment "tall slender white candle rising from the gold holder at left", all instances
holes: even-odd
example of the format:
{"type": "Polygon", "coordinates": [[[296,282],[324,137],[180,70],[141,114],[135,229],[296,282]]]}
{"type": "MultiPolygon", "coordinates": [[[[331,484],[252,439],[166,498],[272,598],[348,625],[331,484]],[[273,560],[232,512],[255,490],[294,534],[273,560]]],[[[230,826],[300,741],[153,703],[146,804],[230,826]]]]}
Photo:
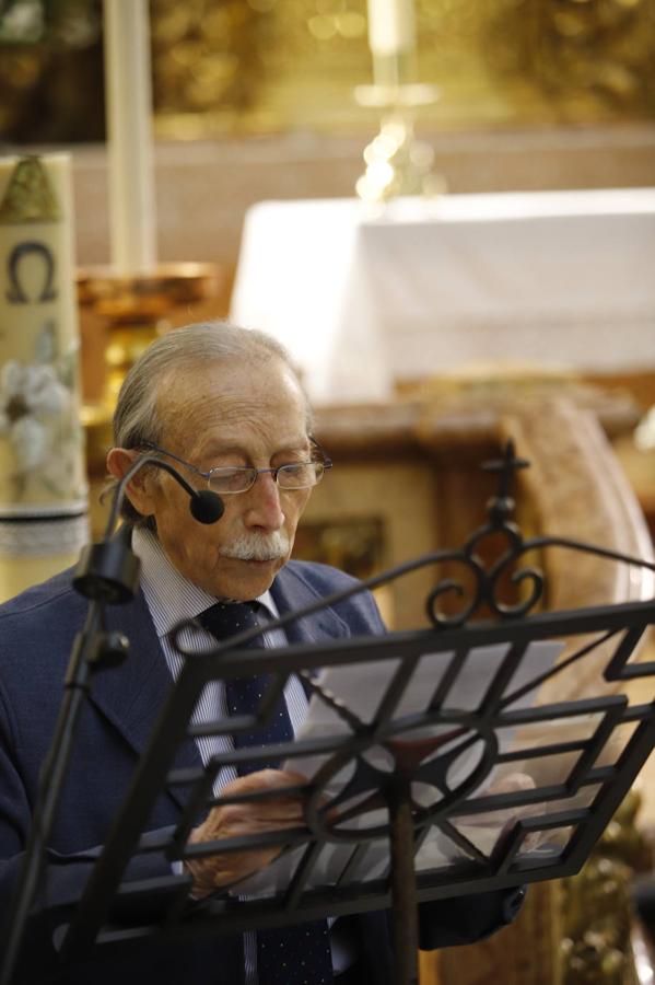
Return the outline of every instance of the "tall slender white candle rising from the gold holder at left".
{"type": "Polygon", "coordinates": [[[152,271],[156,219],[147,0],[105,0],[109,232],[117,274],[152,271]]]}

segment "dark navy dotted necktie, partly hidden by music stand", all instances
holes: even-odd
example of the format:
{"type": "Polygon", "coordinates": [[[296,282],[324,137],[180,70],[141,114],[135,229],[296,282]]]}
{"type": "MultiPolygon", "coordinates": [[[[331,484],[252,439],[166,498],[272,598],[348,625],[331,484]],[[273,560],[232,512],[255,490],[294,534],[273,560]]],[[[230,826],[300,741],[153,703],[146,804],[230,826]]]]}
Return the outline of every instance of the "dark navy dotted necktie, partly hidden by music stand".
{"type": "MultiPolygon", "coordinates": [[[[257,613],[262,612],[258,602],[217,602],[199,616],[206,629],[219,641],[226,640],[260,625],[257,613]]],[[[262,618],[262,622],[265,619],[262,618]]],[[[265,646],[257,636],[245,648],[265,646]]],[[[271,682],[270,674],[235,677],[225,682],[225,698],[230,715],[254,715],[261,696],[271,682]]],[[[282,696],[268,725],[253,732],[234,735],[236,749],[261,748],[293,740],[293,729],[282,696]]],[[[279,762],[258,762],[238,767],[239,775],[256,769],[277,767],[279,762]]],[[[327,920],[314,920],[280,930],[257,931],[257,978],[259,985],[327,985],[332,982],[332,961],[327,920]]]]}

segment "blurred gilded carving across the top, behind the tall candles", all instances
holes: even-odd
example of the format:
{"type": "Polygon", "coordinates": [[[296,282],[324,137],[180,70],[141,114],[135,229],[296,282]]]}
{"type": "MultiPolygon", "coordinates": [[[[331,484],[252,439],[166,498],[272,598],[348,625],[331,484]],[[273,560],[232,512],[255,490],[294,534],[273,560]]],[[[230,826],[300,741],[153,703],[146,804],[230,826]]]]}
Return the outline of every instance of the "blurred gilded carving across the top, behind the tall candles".
{"type": "MultiPolygon", "coordinates": [[[[97,139],[100,0],[5,5],[15,14],[13,34],[9,18],[0,24],[3,132],[17,140],[97,139]],[[21,33],[27,14],[39,10],[39,30],[21,33]]],[[[422,111],[426,121],[593,123],[655,114],[655,0],[416,0],[416,10],[420,78],[443,90],[440,103],[422,111]]],[[[152,0],[151,16],[164,136],[366,128],[375,119],[352,97],[372,76],[366,0],[152,0]]]]}

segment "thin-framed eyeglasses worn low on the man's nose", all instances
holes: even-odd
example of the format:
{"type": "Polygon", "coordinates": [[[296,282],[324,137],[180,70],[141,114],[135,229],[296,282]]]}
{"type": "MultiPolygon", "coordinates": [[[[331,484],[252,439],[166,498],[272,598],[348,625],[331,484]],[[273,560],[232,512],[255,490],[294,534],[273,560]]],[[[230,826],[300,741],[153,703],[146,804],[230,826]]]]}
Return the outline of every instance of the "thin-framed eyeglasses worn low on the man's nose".
{"type": "Polygon", "coordinates": [[[325,475],[326,470],[332,467],[332,462],[315,438],[309,437],[309,441],[312,442],[313,451],[320,455],[319,459],[311,462],[290,462],[288,465],[278,465],[277,468],[225,465],[210,468],[209,472],[201,472],[195,465],[185,462],[184,459],[160,448],[157,444],[153,444],[151,441],[143,441],[141,448],[147,448],[150,451],[157,452],[160,455],[173,459],[175,462],[184,465],[185,468],[189,468],[196,475],[207,479],[208,489],[219,493],[221,496],[230,496],[233,493],[247,493],[257,482],[257,476],[265,473],[272,475],[280,489],[308,489],[312,486],[316,486],[325,475]]]}

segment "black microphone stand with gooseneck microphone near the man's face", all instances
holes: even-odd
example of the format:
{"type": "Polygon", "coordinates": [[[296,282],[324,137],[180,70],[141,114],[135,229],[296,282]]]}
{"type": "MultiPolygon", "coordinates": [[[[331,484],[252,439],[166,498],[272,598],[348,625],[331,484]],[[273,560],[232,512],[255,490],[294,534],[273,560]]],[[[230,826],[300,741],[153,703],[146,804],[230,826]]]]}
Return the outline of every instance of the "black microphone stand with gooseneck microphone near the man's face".
{"type": "Polygon", "coordinates": [[[38,779],[33,820],[27,834],[21,871],[14,889],[3,932],[3,960],[0,985],[11,985],[30,911],[38,890],[55,811],[66,779],[80,712],[91,690],[95,671],[118,667],[129,653],[129,641],[121,633],[107,633],[105,607],[120,605],[134,598],[139,589],[141,563],[131,551],[131,526],[114,529],[125,490],[145,465],[163,468],[191,497],[191,513],[201,523],[213,523],[223,513],[222,500],[207,490],[197,493],[166,462],[140,455],[121,478],[105,526],[104,538],[83,548],[73,575],[77,592],[90,600],[83,628],[75,636],[65,679],[65,693],[55,733],[38,779]],[[211,496],[211,499],[210,499],[211,496]]]}

